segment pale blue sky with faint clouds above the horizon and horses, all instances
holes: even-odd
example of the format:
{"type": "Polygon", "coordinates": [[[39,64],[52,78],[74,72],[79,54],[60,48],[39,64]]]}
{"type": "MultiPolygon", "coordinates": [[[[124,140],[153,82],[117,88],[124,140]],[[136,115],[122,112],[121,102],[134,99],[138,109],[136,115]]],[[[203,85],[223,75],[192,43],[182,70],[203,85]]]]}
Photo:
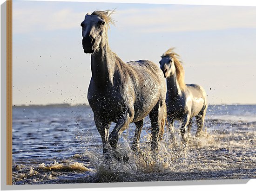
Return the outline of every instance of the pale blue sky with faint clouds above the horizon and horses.
{"type": "Polygon", "coordinates": [[[210,104],[256,103],[256,7],[13,1],[13,104],[86,103],[90,55],[80,23],[116,8],[109,45],[125,62],[176,47],[185,82],[210,104]]]}

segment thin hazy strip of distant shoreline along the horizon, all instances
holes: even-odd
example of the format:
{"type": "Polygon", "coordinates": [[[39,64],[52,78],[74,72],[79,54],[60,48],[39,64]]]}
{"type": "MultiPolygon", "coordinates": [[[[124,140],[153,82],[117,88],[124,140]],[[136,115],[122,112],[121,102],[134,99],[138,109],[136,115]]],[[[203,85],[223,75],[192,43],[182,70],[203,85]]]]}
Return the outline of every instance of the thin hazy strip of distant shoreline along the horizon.
{"type": "MultiPolygon", "coordinates": [[[[233,104],[210,104],[209,106],[235,106],[235,105],[256,105],[256,104],[241,104],[241,103],[233,103],[233,104]]],[[[13,105],[13,108],[20,107],[90,107],[88,104],[75,104],[71,105],[69,103],[56,103],[56,104],[41,104],[41,105],[13,105]]]]}

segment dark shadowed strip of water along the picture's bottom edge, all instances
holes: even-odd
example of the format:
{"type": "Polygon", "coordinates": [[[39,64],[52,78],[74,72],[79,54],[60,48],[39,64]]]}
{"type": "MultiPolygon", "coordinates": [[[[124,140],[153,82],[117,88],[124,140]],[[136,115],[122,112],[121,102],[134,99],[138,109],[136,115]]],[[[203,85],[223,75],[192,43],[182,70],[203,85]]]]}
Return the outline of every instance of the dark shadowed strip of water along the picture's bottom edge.
{"type": "Polygon", "coordinates": [[[116,183],[116,182],[149,182],[149,181],[188,181],[188,180],[221,180],[221,179],[250,179],[256,178],[255,169],[235,169],[209,172],[154,172],[147,176],[143,172],[134,175],[123,172],[96,174],[93,176],[75,177],[74,179],[59,178],[39,184],[76,184],[76,183],[116,183]],[[241,175],[238,174],[243,174],[241,175]],[[252,175],[254,174],[254,175],[252,175]],[[161,178],[160,178],[161,177],[161,178]]]}

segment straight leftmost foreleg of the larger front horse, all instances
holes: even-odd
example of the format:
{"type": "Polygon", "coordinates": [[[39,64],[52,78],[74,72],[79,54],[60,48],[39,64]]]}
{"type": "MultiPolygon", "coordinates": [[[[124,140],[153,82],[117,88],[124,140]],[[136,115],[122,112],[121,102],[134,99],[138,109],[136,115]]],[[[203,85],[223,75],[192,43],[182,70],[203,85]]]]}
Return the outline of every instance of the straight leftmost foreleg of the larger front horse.
{"type": "Polygon", "coordinates": [[[109,135],[108,129],[110,127],[110,122],[101,120],[101,117],[95,114],[94,114],[94,122],[99,134],[101,135],[103,153],[107,153],[111,149],[111,146],[108,143],[108,135],[109,135]]]}

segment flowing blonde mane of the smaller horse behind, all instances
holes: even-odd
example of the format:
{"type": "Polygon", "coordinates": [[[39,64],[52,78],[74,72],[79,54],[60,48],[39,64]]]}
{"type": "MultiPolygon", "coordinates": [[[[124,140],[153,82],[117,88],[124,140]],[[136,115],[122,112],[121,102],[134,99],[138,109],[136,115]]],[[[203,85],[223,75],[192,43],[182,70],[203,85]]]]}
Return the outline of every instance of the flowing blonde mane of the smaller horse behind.
{"type": "Polygon", "coordinates": [[[174,48],[170,48],[168,49],[163,55],[162,57],[172,57],[172,59],[174,60],[174,65],[176,68],[176,76],[177,76],[177,80],[179,83],[179,86],[182,90],[185,89],[186,84],[184,82],[184,69],[182,66],[182,61],[180,60],[180,55],[178,55],[177,53],[175,53],[174,48]]]}

